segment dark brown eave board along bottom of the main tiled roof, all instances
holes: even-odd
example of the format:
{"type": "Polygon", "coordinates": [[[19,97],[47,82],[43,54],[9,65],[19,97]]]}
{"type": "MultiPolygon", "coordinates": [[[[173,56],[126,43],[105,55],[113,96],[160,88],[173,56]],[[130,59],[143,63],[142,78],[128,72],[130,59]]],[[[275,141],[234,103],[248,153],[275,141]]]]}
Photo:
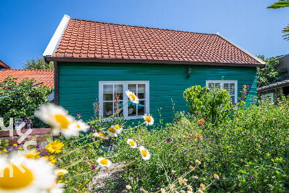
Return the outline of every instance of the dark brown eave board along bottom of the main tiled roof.
{"type": "Polygon", "coordinates": [[[223,63],[223,62],[203,62],[203,61],[170,61],[154,59],[98,59],[98,58],[75,58],[75,57],[45,57],[46,61],[58,62],[96,62],[96,63],[156,63],[171,65],[225,65],[225,66],[246,66],[262,67],[261,63],[223,63]]]}

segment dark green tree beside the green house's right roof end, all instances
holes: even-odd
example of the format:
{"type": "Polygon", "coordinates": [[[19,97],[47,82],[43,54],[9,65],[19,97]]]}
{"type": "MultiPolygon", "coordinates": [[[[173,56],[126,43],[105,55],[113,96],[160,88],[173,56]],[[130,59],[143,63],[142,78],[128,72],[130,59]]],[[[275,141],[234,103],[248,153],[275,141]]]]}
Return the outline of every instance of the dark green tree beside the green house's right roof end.
{"type": "Polygon", "coordinates": [[[283,77],[277,77],[278,72],[275,70],[275,66],[279,64],[279,60],[276,57],[270,57],[265,59],[263,55],[258,56],[259,59],[265,61],[266,67],[258,68],[257,67],[257,86],[261,87],[268,85],[270,83],[275,83],[281,81],[283,77]]]}

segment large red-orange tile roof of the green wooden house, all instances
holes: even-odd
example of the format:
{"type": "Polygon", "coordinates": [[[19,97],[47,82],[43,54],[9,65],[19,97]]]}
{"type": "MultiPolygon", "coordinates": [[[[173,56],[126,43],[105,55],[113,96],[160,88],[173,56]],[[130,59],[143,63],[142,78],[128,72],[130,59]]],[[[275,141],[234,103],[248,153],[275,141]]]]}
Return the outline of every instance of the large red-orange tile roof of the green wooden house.
{"type": "Polygon", "coordinates": [[[54,57],[260,64],[217,34],[80,19],[69,19],[54,57]]]}

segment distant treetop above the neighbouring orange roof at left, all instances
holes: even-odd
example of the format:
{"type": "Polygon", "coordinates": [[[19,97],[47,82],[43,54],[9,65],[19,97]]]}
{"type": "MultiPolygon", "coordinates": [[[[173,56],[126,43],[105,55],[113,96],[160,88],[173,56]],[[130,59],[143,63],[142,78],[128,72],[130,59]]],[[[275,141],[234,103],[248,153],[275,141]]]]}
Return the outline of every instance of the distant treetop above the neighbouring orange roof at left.
{"type": "Polygon", "coordinates": [[[45,63],[43,58],[36,57],[30,61],[25,61],[24,63],[24,69],[34,69],[34,70],[53,70],[54,69],[54,63],[51,61],[50,63],[45,63]]]}

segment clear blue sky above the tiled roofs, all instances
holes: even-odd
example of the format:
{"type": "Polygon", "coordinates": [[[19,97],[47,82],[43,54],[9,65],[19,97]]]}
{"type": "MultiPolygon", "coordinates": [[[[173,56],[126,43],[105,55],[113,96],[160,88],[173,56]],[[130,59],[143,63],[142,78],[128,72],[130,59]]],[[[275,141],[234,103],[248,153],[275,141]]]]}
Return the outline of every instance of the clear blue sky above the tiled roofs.
{"type": "MultiPolygon", "coordinates": [[[[275,0],[277,1],[277,0],[275,0]]],[[[252,54],[289,54],[283,39],[289,8],[266,9],[271,0],[1,0],[0,59],[11,68],[41,57],[64,14],[135,26],[220,32],[252,54]]]]}

